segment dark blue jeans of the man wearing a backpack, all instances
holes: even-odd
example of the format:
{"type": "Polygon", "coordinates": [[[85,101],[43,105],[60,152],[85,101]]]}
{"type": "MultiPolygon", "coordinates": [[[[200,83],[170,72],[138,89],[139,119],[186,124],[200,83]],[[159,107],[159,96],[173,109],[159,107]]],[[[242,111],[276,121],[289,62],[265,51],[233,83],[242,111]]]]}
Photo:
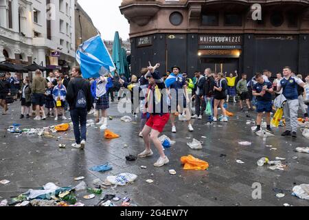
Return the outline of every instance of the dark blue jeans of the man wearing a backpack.
{"type": "Polygon", "coordinates": [[[73,122],[73,129],[74,129],[74,136],[75,136],[76,144],[80,144],[82,140],[86,140],[87,109],[72,109],[71,119],[73,122]]]}

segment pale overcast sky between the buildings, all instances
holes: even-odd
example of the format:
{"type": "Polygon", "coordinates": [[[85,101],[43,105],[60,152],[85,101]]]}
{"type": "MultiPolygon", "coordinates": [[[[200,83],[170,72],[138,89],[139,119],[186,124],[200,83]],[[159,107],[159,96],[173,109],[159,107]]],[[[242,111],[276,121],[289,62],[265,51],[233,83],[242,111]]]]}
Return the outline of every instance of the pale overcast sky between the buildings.
{"type": "Polygon", "coordinates": [[[128,39],[129,23],[119,10],[122,0],[78,0],[78,3],[91,17],[104,40],[113,40],[116,31],[122,39],[128,39]]]}

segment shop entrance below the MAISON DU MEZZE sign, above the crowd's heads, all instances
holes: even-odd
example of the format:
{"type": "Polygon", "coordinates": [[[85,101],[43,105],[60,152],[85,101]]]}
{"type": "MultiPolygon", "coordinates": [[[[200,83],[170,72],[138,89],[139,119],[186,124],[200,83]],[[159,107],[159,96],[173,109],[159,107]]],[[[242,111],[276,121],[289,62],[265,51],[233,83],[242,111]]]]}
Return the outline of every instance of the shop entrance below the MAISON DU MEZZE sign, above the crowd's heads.
{"type": "Polygon", "coordinates": [[[239,69],[238,58],[201,58],[200,65],[202,72],[211,68],[212,72],[230,74],[239,69]]]}

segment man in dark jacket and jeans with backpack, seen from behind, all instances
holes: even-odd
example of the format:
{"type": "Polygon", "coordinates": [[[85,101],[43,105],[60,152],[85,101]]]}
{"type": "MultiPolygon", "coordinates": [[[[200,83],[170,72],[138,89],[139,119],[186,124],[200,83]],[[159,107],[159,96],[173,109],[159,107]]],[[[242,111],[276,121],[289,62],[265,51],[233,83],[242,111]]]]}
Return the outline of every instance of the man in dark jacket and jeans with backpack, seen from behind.
{"type": "Polygon", "coordinates": [[[87,80],[82,78],[80,67],[73,67],[73,79],[67,88],[67,102],[69,103],[76,143],[73,148],[84,149],[87,135],[87,112],[91,110],[91,89],[87,80]],[[81,127],[81,129],[80,129],[81,127]]]}

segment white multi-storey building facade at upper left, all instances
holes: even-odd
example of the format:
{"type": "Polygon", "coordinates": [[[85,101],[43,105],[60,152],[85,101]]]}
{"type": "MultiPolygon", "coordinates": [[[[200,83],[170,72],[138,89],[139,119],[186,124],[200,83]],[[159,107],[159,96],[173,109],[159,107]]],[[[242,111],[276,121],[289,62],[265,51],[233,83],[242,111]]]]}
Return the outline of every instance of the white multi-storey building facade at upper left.
{"type": "Polygon", "coordinates": [[[0,0],[0,61],[75,64],[74,0],[0,0]]]}

